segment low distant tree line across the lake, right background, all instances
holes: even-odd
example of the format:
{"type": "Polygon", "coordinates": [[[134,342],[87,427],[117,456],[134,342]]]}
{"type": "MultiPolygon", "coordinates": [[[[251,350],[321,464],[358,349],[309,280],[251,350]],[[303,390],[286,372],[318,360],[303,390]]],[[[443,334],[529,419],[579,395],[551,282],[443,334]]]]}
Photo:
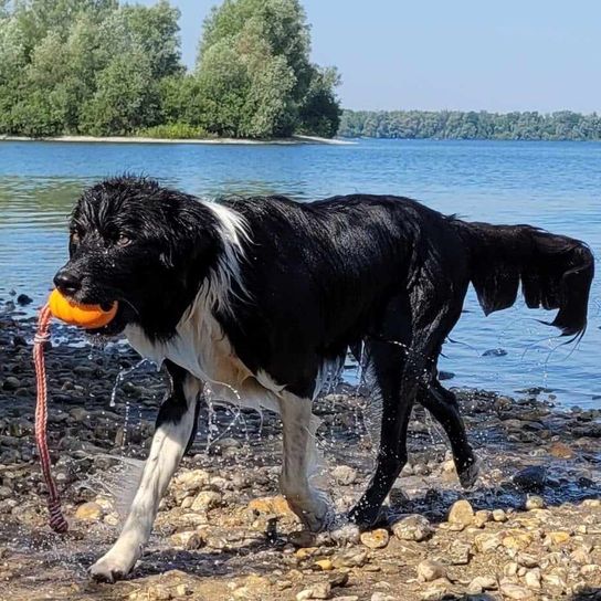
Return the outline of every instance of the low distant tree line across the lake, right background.
{"type": "Polygon", "coordinates": [[[358,138],[599,140],[601,115],[457,110],[345,110],[338,134],[358,138]]]}

